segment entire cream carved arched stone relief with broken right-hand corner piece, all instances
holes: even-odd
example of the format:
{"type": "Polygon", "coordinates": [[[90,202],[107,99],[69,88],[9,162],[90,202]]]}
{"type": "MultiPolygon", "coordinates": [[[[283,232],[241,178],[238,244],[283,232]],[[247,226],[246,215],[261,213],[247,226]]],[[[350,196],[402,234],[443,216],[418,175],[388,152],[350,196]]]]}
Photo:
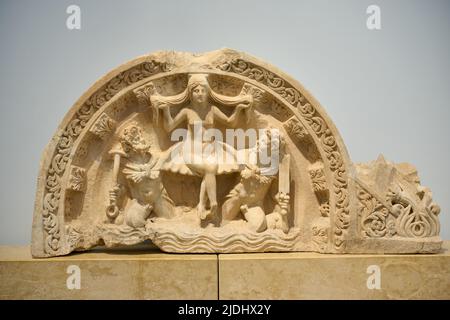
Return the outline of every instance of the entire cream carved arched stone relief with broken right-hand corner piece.
{"type": "Polygon", "coordinates": [[[436,252],[407,164],[353,165],[324,109],[229,49],[157,52],[102,78],[41,162],[35,257],[151,240],[166,252],[436,252]]]}

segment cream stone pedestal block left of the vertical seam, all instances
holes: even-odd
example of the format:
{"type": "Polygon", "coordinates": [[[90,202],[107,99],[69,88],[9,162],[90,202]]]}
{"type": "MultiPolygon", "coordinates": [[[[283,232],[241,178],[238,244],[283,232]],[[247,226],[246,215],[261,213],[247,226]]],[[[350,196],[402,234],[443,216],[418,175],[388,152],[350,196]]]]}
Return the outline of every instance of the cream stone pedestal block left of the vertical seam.
{"type": "Polygon", "coordinates": [[[216,255],[170,255],[148,247],[33,259],[0,246],[0,299],[217,299],[216,255]],[[80,289],[68,289],[80,268],[80,289]],[[70,271],[71,273],[67,273],[70,271]]]}

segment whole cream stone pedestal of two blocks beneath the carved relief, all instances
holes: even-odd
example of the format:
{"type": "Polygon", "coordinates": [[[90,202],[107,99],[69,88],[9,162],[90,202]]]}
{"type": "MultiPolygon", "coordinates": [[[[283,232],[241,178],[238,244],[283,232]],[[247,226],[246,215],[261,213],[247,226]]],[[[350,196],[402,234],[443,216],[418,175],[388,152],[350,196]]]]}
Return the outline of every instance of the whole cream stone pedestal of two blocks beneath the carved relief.
{"type": "Polygon", "coordinates": [[[2,246],[0,298],[450,299],[449,249],[450,241],[430,255],[198,255],[134,247],[33,259],[29,247],[2,246]]]}

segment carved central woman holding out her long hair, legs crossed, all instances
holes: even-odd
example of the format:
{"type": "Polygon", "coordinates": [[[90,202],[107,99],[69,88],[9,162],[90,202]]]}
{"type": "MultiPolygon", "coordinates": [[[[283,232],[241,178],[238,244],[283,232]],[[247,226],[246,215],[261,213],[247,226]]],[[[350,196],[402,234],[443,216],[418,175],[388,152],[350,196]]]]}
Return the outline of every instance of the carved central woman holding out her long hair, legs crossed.
{"type": "Polygon", "coordinates": [[[211,90],[206,74],[191,74],[185,91],[175,96],[154,93],[150,103],[154,108],[155,121],[159,122],[162,112],[163,126],[167,132],[172,132],[182,124],[186,125],[186,135],[166,151],[161,169],[202,177],[197,213],[201,220],[210,214],[214,215],[217,211],[216,176],[239,171],[240,166],[236,150],[222,139],[217,139],[217,135],[208,135],[208,131],[215,128],[216,122],[225,127],[236,127],[242,110],[249,116],[253,97],[218,94],[211,90]],[[227,116],[214,103],[234,107],[234,110],[227,116]],[[184,107],[173,116],[171,109],[177,105],[184,107]],[[209,210],[206,209],[208,202],[209,210]]]}

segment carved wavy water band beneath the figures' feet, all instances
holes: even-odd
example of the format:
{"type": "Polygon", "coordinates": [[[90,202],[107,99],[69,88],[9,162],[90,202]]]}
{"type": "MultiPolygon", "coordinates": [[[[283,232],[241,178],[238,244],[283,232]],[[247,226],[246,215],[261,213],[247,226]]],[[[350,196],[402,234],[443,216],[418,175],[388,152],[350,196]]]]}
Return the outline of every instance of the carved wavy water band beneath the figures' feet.
{"type": "MultiPolygon", "coordinates": [[[[170,222],[150,223],[146,228],[98,225],[93,232],[94,242],[101,238],[107,247],[133,245],[151,240],[165,252],[230,253],[230,252],[280,252],[293,251],[300,240],[300,230],[292,228],[285,234],[281,230],[266,230],[257,233],[234,229],[193,228],[180,231],[182,224],[170,222]],[[99,238],[97,238],[99,237],[99,238]]],[[[92,240],[92,239],[91,239],[92,240]]]]}

